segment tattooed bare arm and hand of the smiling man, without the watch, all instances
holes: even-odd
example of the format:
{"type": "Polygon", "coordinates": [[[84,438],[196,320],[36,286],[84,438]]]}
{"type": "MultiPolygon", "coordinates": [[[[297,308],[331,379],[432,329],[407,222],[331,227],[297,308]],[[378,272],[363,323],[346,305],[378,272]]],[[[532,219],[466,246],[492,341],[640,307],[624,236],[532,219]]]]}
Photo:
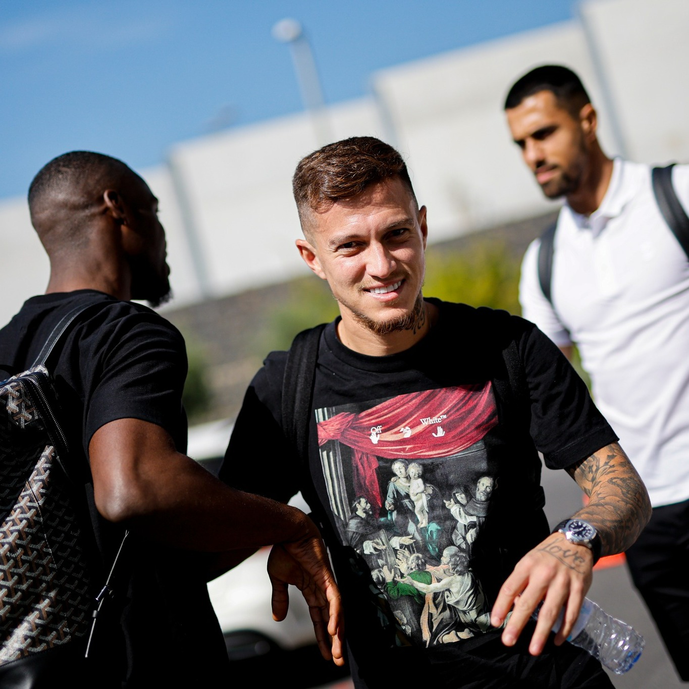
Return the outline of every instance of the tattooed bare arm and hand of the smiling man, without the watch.
{"type": "MultiPolygon", "coordinates": [[[[599,449],[567,471],[589,498],[586,507],[573,516],[595,526],[602,541],[601,554],[626,550],[648,523],[651,508],[646,487],[619,444],[599,449]]],[[[564,643],[590,587],[592,569],[591,551],[571,544],[562,533],[551,534],[526,553],[502,585],[491,613],[491,624],[500,626],[513,608],[502,633],[504,644],[516,643],[541,601],[529,652],[542,652],[563,606],[564,622],[555,635],[555,644],[564,643]]]]}

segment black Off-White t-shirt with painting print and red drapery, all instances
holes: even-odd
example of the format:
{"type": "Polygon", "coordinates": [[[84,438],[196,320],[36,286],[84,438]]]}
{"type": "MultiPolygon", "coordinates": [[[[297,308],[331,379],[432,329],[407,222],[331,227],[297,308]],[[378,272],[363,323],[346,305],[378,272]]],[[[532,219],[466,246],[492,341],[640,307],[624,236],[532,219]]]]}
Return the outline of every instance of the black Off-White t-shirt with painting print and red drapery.
{"type": "Polygon", "coordinates": [[[337,321],[325,328],[309,429],[315,493],[281,429],[285,352],[251,382],[220,471],[278,500],[317,496],[358,686],[412,667],[444,686],[446,670],[429,675],[427,664],[474,672],[467,657],[502,654],[489,623],[495,595],[548,534],[538,451],[564,468],[617,440],[533,324],[429,301],[438,322],[392,356],[351,351],[337,321]],[[512,376],[510,348],[520,362],[512,376]]]}

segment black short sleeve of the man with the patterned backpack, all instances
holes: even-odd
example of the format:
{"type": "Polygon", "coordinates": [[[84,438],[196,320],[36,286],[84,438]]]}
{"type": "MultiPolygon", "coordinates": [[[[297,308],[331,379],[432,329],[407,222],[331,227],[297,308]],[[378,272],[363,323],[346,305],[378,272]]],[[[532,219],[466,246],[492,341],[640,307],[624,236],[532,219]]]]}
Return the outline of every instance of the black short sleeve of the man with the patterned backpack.
{"type": "Polygon", "coordinates": [[[182,391],[187,355],[181,333],[143,307],[90,325],[83,337],[93,358],[81,362],[83,376],[91,378],[85,400],[85,449],[101,426],[134,418],[161,426],[178,451],[185,451],[182,391]]]}

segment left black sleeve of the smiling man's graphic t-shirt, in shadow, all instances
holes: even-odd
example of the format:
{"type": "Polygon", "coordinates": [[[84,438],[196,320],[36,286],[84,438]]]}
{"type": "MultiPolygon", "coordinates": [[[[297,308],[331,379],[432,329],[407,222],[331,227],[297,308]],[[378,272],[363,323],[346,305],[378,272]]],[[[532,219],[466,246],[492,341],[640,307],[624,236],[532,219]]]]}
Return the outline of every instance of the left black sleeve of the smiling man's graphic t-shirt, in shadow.
{"type": "Polygon", "coordinates": [[[280,502],[289,502],[300,487],[300,462],[280,420],[286,356],[271,353],[251,381],[218,474],[233,488],[280,502]]]}

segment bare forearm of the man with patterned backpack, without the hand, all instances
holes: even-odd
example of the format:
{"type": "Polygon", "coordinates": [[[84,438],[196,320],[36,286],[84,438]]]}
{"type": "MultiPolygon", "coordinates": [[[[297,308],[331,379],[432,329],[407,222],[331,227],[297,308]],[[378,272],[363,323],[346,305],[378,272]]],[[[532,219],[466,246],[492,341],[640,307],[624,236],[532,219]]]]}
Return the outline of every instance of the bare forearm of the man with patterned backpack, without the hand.
{"type": "Polygon", "coordinates": [[[163,544],[220,552],[318,537],[300,510],[226,486],[154,424],[111,422],[89,449],[103,517],[163,544]]]}

